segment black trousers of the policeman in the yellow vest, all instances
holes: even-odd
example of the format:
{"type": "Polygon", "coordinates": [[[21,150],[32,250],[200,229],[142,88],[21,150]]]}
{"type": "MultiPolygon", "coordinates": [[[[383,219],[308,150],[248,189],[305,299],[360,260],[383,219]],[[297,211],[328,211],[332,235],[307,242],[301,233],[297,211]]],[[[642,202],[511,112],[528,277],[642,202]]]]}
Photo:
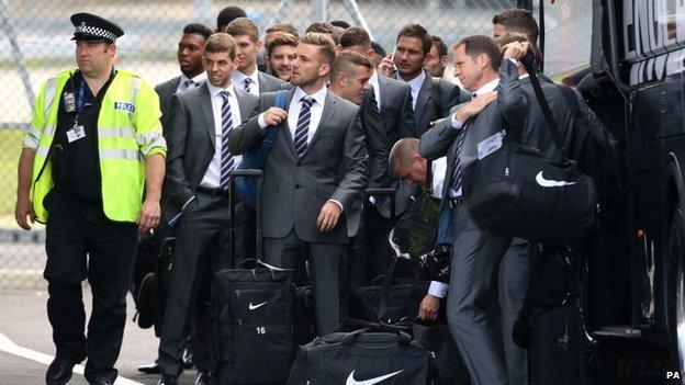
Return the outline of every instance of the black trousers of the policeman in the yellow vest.
{"type": "Polygon", "coordinates": [[[88,358],[86,378],[114,381],[126,321],[126,288],[136,245],[136,225],[106,219],[100,201],[63,196],[45,199],[48,282],[47,315],[57,356],[88,358]],[[88,258],[86,257],[88,254],[88,258]],[[92,314],[83,336],[86,312],[81,282],[88,279],[92,314]]]}

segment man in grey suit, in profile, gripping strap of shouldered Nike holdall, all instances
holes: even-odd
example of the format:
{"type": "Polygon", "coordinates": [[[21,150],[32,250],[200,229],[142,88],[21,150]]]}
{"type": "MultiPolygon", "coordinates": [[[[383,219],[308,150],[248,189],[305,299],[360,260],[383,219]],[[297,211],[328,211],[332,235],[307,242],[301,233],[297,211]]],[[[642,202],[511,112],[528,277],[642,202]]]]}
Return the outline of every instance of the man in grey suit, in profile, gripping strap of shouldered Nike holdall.
{"type": "MultiPolygon", "coordinates": [[[[504,127],[497,104],[492,103],[496,98],[492,91],[498,83],[501,55],[497,44],[487,36],[467,37],[456,45],[454,75],[474,92],[474,98],[424,134],[419,143],[424,158],[448,157],[441,210],[451,211],[454,247],[447,318],[471,380],[487,385],[508,383],[502,331],[494,327],[499,324],[495,274],[498,269],[507,270],[506,279],[523,281],[507,284],[523,286],[517,291],[525,293],[528,264],[525,244],[513,245],[510,236],[479,228],[461,197],[461,170],[478,159],[479,144],[501,135],[504,127]],[[509,253],[504,257],[507,250],[509,253]]],[[[508,298],[499,298],[504,301],[508,298]]]]}

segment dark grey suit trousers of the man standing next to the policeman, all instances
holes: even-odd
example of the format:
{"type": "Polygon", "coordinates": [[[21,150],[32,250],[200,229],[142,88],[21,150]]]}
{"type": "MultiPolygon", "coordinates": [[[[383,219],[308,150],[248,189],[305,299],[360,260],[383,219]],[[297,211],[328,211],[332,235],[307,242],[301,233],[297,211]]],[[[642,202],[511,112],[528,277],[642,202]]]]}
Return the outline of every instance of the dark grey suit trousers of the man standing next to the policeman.
{"type": "MultiPolygon", "coordinates": [[[[173,268],[169,278],[169,293],[159,341],[159,370],[162,374],[178,376],[182,371],[184,339],[198,307],[205,269],[212,272],[229,265],[229,211],[228,199],[204,193],[195,195],[176,228],[173,268]]],[[[237,246],[237,245],[236,245],[237,246]]],[[[237,249],[237,247],[236,247],[237,249]]],[[[195,319],[198,348],[209,341],[205,314],[195,319]]],[[[195,365],[200,371],[212,370],[210,354],[195,351],[195,365]]]]}

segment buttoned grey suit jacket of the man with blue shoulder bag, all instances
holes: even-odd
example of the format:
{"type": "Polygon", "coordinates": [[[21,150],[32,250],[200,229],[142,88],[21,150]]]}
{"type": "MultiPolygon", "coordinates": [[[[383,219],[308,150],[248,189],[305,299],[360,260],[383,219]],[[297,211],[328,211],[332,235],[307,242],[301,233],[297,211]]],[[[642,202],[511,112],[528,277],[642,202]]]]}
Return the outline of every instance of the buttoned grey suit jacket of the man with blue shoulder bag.
{"type": "MultiPolygon", "coordinates": [[[[288,91],[287,105],[294,94],[288,91]]],[[[254,116],[231,133],[233,152],[243,154],[259,143],[265,132],[259,127],[261,111],[273,105],[276,93],[262,93],[254,116]]],[[[355,200],[368,178],[367,151],[359,118],[359,107],[328,92],[321,123],[307,149],[297,159],[290,128],[285,122],[267,159],[263,180],[262,223],[265,236],[283,238],[293,228],[308,242],[346,244],[355,200]],[[328,200],[344,206],[338,226],[328,233],[316,228],[316,218],[328,200]]]]}

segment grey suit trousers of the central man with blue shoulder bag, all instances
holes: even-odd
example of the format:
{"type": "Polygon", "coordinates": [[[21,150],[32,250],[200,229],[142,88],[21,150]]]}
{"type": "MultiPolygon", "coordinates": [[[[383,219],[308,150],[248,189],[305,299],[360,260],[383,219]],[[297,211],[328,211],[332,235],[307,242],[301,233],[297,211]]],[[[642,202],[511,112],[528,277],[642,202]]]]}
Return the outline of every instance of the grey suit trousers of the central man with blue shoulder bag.
{"type": "Polygon", "coordinates": [[[336,331],[347,313],[344,308],[346,249],[343,244],[304,241],[294,228],[283,238],[265,238],[267,262],[279,268],[296,270],[304,257],[310,256],[318,336],[336,331]]]}

